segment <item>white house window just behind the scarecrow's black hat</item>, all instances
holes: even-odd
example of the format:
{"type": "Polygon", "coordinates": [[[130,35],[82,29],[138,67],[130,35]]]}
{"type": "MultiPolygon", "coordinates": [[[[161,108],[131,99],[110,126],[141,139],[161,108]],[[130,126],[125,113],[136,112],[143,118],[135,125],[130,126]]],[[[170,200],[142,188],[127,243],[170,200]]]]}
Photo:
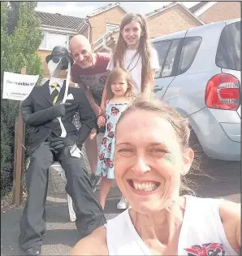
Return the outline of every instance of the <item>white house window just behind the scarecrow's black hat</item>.
{"type": "Polygon", "coordinates": [[[60,34],[60,33],[48,33],[44,32],[40,50],[52,51],[55,46],[69,47],[69,42],[72,36],[60,34]]]}

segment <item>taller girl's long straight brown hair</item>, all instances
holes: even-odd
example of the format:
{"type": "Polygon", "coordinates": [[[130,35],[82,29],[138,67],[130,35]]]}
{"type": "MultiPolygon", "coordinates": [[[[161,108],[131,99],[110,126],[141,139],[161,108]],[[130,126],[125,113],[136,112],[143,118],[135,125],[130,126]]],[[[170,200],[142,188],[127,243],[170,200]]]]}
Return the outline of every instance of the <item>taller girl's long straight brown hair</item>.
{"type": "Polygon", "coordinates": [[[113,54],[113,62],[114,62],[114,67],[116,67],[117,64],[119,63],[119,67],[123,68],[123,57],[124,57],[125,51],[127,50],[127,43],[123,39],[122,32],[123,32],[123,28],[127,24],[130,24],[132,20],[135,20],[136,22],[138,22],[141,28],[142,35],[140,37],[140,43],[137,49],[137,54],[140,55],[142,60],[141,91],[144,91],[145,85],[149,82],[152,82],[153,77],[152,77],[152,71],[151,71],[151,65],[150,65],[150,55],[151,55],[152,47],[149,42],[149,33],[148,33],[146,20],[142,15],[129,13],[125,15],[125,17],[123,18],[120,24],[119,39],[113,54]]]}

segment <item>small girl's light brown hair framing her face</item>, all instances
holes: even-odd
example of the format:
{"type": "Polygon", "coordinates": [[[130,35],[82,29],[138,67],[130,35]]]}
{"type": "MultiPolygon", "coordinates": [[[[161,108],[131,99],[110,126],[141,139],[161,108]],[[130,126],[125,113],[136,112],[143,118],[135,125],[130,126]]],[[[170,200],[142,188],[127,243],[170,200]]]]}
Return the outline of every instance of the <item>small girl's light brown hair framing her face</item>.
{"type": "Polygon", "coordinates": [[[115,80],[118,77],[124,77],[124,79],[127,81],[127,97],[133,96],[133,84],[132,84],[132,78],[130,74],[128,73],[127,69],[125,68],[114,68],[107,77],[106,80],[106,94],[108,99],[111,99],[114,97],[114,93],[112,92],[111,85],[115,82],[115,80]]]}

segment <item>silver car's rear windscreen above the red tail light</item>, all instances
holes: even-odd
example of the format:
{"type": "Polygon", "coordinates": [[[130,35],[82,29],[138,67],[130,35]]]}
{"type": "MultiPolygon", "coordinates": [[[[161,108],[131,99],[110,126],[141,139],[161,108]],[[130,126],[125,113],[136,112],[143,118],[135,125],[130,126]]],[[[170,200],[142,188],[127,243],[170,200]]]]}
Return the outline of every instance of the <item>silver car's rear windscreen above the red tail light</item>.
{"type": "Polygon", "coordinates": [[[240,21],[238,21],[228,24],[221,33],[216,65],[220,68],[241,70],[240,51],[240,21]]]}

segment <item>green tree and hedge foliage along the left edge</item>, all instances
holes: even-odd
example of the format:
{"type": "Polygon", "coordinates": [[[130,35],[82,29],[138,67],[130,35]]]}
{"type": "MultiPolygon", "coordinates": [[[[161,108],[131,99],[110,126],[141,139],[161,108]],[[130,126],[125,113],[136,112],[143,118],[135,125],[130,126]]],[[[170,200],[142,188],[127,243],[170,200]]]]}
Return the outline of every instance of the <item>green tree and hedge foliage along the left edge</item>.
{"type": "MultiPolygon", "coordinates": [[[[36,7],[37,2],[1,2],[1,93],[4,72],[20,73],[26,66],[26,74],[40,75],[41,81],[42,29],[36,7]]],[[[12,183],[18,109],[18,101],[1,100],[1,196],[12,183]]]]}

